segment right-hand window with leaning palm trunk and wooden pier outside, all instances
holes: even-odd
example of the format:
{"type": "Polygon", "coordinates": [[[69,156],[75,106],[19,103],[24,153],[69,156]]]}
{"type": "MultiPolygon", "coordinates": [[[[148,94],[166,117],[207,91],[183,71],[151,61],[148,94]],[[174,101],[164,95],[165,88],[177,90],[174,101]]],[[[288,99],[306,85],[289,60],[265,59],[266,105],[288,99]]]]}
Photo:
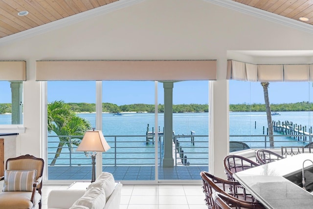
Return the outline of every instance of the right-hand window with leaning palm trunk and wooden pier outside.
{"type": "MultiPolygon", "coordinates": [[[[274,147],[306,145],[312,133],[313,86],[310,82],[268,82],[274,147]],[[287,127],[282,129],[281,127],[287,127]]],[[[229,81],[230,151],[239,148],[237,141],[250,148],[269,148],[268,117],[264,88],[260,82],[229,81]]]]}

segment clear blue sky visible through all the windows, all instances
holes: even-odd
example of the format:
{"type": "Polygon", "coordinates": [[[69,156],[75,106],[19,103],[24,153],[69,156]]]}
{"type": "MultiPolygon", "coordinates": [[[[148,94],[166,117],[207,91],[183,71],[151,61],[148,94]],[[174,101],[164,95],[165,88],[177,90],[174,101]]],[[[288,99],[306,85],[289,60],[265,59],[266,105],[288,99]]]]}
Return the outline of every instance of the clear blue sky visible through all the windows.
{"type": "MultiPolygon", "coordinates": [[[[154,86],[153,81],[104,81],[102,99],[117,105],[154,104],[154,86]]],[[[10,92],[10,83],[1,81],[0,103],[11,103],[10,92]]],[[[313,98],[313,86],[308,82],[272,82],[268,92],[272,104],[310,101],[310,97],[313,98]]],[[[50,81],[48,101],[55,100],[95,103],[95,82],[50,81]]],[[[158,103],[163,103],[163,100],[163,84],[159,83],[158,103]]],[[[175,82],[173,103],[208,104],[208,81],[175,82]]],[[[264,103],[263,88],[259,82],[230,81],[229,103],[264,103]]]]}

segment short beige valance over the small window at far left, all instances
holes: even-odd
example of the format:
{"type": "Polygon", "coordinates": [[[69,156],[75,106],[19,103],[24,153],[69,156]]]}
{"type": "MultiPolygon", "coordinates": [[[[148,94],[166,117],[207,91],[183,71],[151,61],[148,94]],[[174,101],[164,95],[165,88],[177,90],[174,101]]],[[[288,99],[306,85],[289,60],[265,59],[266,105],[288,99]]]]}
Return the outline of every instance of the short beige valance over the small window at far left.
{"type": "Polygon", "coordinates": [[[25,81],[26,62],[25,61],[0,61],[1,81],[25,81]]]}

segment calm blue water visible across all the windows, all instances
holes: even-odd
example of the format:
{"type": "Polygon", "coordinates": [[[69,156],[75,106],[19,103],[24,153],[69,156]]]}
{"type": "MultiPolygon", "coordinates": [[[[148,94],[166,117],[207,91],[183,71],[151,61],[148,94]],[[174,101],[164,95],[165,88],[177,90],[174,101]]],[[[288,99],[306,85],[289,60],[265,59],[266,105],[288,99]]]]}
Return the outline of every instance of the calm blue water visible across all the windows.
{"type": "MultiPolygon", "coordinates": [[[[313,124],[310,116],[310,112],[279,112],[280,115],[272,116],[274,121],[292,121],[298,125],[307,126],[307,131],[313,124]]],[[[81,117],[88,119],[92,127],[95,127],[95,114],[78,114],[81,117]]],[[[0,115],[0,122],[2,124],[7,121],[10,123],[11,115],[0,115]]],[[[123,116],[113,116],[113,114],[104,113],[102,117],[103,134],[109,141],[112,147],[116,146],[116,150],[110,149],[104,154],[106,163],[114,164],[115,156],[114,152],[117,153],[117,158],[120,160],[117,163],[129,164],[128,158],[142,158],[135,160],[135,163],[147,163],[154,164],[154,145],[152,143],[145,143],[145,137],[118,137],[115,139],[110,136],[134,136],[146,135],[147,125],[149,124],[149,131],[152,131],[154,127],[155,116],[152,113],[126,113],[123,116]],[[137,148],[136,148],[137,147],[137,148]],[[127,153],[127,154],[126,154],[127,153]]],[[[158,126],[160,132],[163,132],[164,126],[164,115],[158,115],[158,126]]],[[[233,141],[245,141],[250,147],[253,148],[264,148],[265,142],[264,137],[254,137],[250,135],[266,135],[267,117],[265,112],[231,112],[229,113],[229,134],[230,140],[233,141]],[[265,133],[263,133],[263,127],[265,127],[265,133]],[[232,135],[247,135],[250,137],[233,137],[232,135]]],[[[175,135],[190,135],[191,131],[195,132],[195,135],[208,135],[208,113],[174,113],[173,114],[173,131],[175,135]]],[[[53,134],[49,134],[50,136],[53,134]]],[[[274,133],[274,135],[280,135],[274,133]]],[[[179,139],[180,145],[185,146],[184,152],[188,153],[188,161],[190,163],[199,163],[199,160],[193,158],[207,158],[207,154],[196,154],[196,153],[208,153],[208,138],[207,137],[196,137],[196,143],[194,147],[190,145],[190,138],[179,139]],[[186,141],[186,142],[184,142],[186,141]],[[188,147],[188,148],[187,148],[188,147]],[[203,147],[203,148],[199,148],[203,147]]],[[[304,145],[307,142],[297,141],[289,137],[275,137],[275,147],[282,145],[304,145]],[[279,142],[282,141],[282,142],[279,142]],[[296,142],[296,143],[294,143],[296,142]]],[[[309,139],[307,139],[309,140],[309,139]]],[[[57,137],[48,138],[48,147],[57,147],[59,139],[57,137]]],[[[269,144],[266,143],[267,147],[269,144]]],[[[162,147],[162,146],[161,146],[162,147]]],[[[62,149],[62,153],[57,160],[57,163],[69,163],[69,158],[72,158],[70,163],[90,163],[90,158],[82,153],[75,152],[73,150],[72,156],[69,156],[69,150],[67,147],[62,149]],[[78,158],[76,160],[75,158],[78,158]],[[83,162],[82,162],[83,161],[83,162]]],[[[48,148],[48,162],[52,161],[56,148],[48,148]]],[[[162,150],[159,149],[159,153],[162,150]]],[[[160,155],[160,154],[158,154],[160,155]]],[[[134,162],[133,162],[134,163],[134,162]]]]}

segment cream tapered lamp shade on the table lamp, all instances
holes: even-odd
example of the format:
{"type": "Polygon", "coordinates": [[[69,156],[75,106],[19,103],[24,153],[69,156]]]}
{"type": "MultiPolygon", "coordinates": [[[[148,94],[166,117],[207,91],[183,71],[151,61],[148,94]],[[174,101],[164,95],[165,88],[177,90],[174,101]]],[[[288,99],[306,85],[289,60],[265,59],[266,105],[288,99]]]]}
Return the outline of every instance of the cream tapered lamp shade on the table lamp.
{"type": "Polygon", "coordinates": [[[86,131],[76,151],[106,152],[110,148],[102,131],[86,131]]]}

